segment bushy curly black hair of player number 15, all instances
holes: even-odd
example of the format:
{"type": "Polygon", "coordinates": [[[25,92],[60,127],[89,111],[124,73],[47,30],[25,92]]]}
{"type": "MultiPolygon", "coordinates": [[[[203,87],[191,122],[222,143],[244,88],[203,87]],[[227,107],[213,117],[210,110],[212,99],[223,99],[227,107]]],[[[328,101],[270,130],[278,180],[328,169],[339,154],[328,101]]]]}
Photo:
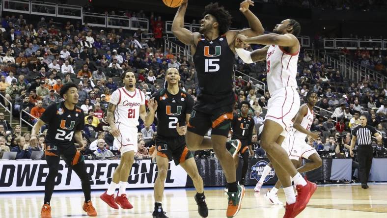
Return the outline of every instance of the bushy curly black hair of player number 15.
{"type": "Polygon", "coordinates": [[[219,34],[223,35],[228,31],[228,28],[231,26],[232,16],[223,6],[219,6],[218,2],[211,2],[209,5],[205,6],[203,17],[206,16],[206,14],[214,16],[219,23],[219,34]]]}

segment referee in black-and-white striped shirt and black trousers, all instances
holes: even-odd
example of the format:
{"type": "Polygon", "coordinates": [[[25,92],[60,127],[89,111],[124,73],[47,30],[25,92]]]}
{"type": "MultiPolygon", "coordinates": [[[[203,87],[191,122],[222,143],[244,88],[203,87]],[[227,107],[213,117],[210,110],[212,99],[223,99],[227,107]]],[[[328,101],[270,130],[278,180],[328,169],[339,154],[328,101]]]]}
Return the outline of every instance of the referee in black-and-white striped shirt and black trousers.
{"type": "Polygon", "coordinates": [[[364,115],[360,116],[360,126],[356,127],[352,132],[350,155],[354,157],[355,143],[358,142],[358,162],[359,162],[359,180],[361,188],[368,189],[367,181],[369,171],[371,170],[372,157],[374,150],[372,149],[371,137],[375,136],[378,141],[382,140],[382,135],[370,125],[367,125],[367,118],[364,115]]]}

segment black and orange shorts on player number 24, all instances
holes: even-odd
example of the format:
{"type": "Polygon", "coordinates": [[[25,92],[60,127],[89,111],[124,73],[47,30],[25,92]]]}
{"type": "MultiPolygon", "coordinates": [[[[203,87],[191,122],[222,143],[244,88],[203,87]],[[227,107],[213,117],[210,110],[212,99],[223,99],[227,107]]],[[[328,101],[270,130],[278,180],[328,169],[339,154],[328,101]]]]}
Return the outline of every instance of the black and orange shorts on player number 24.
{"type": "Polygon", "coordinates": [[[46,156],[62,157],[68,166],[73,166],[84,161],[83,155],[77,150],[74,144],[60,145],[55,142],[45,141],[44,147],[44,154],[46,156]]]}

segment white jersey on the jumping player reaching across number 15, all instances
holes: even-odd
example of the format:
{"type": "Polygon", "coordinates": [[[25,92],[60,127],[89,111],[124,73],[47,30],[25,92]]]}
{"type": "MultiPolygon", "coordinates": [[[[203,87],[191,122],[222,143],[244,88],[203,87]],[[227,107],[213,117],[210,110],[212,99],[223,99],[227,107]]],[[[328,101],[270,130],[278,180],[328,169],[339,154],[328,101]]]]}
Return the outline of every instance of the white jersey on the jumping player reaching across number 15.
{"type": "Polygon", "coordinates": [[[267,83],[270,94],[286,86],[297,86],[297,62],[300,49],[295,54],[286,53],[280,46],[271,45],[266,54],[267,83]]]}

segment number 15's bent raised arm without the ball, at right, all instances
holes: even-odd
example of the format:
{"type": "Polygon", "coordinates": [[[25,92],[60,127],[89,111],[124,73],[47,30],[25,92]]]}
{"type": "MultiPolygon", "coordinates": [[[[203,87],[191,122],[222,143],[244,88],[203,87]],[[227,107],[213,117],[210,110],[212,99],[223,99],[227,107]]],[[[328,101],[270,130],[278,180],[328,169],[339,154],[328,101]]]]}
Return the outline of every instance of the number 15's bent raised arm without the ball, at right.
{"type": "Polygon", "coordinates": [[[241,31],[239,31],[239,34],[243,34],[248,37],[262,35],[265,29],[263,28],[262,23],[257,18],[257,16],[255,16],[249,10],[249,6],[254,6],[254,2],[252,0],[244,0],[240,4],[239,10],[243,13],[243,15],[248,20],[250,28],[242,29],[241,31]]]}

